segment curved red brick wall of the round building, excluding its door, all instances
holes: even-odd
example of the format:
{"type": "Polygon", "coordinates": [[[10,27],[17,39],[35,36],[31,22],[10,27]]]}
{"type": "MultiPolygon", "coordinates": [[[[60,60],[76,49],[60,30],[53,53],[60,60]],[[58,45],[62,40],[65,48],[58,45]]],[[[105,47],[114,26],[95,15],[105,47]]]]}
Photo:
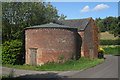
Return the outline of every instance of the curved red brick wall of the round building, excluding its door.
{"type": "Polygon", "coordinates": [[[27,29],[26,39],[26,64],[30,64],[30,48],[37,48],[37,65],[46,62],[58,62],[61,56],[64,61],[76,56],[76,34],[66,29],[39,28],[27,29]]]}

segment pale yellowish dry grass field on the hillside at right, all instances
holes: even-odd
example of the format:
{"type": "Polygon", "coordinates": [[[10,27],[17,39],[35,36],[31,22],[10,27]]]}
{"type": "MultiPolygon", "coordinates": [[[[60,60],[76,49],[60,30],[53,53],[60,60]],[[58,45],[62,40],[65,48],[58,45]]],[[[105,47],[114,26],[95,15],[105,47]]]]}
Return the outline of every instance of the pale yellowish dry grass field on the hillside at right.
{"type": "Polygon", "coordinates": [[[113,34],[110,34],[109,32],[101,32],[100,33],[100,39],[101,40],[116,40],[118,37],[114,37],[113,34]]]}

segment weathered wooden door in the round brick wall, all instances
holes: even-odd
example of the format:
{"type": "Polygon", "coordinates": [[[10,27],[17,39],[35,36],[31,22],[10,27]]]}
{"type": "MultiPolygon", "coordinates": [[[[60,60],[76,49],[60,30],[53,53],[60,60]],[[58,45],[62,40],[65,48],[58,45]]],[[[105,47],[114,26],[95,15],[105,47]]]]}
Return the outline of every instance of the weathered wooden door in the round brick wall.
{"type": "Polygon", "coordinates": [[[30,65],[37,65],[37,49],[30,48],[30,65]]]}

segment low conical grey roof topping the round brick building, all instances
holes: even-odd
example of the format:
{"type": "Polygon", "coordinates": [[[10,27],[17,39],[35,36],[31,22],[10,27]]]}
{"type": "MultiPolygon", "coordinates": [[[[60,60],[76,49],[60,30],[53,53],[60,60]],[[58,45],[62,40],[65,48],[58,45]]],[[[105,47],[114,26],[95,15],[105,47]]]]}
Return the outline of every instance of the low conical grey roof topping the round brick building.
{"type": "Polygon", "coordinates": [[[26,29],[35,29],[35,28],[59,28],[59,29],[69,29],[69,30],[77,31],[77,28],[75,28],[75,27],[69,27],[67,25],[60,25],[60,24],[55,24],[55,23],[26,27],[25,30],[26,29]]]}

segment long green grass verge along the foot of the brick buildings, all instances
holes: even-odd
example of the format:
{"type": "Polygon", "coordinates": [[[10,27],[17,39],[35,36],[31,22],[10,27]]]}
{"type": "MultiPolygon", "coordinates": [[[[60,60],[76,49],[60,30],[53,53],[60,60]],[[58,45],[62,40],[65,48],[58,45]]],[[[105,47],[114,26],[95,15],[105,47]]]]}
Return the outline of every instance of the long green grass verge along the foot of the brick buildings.
{"type": "Polygon", "coordinates": [[[87,59],[80,58],[77,61],[68,60],[65,63],[46,63],[42,66],[30,66],[30,65],[3,65],[5,67],[12,67],[18,69],[26,69],[26,70],[37,70],[37,71],[71,71],[71,70],[81,70],[87,69],[93,66],[96,66],[100,63],[104,62],[104,59],[87,59]]]}

